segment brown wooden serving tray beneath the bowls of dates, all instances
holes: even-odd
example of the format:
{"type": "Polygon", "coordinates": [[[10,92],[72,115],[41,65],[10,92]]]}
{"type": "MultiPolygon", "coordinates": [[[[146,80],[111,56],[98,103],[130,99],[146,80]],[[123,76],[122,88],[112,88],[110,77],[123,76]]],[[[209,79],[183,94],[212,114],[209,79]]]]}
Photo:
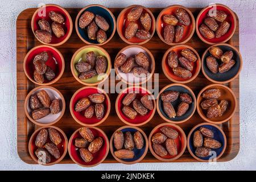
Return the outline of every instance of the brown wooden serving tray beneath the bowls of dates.
{"type": "MultiPolygon", "coordinates": [[[[30,122],[24,112],[24,100],[27,96],[27,93],[30,92],[31,89],[35,88],[38,85],[33,84],[28,78],[26,77],[24,71],[23,71],[23,59],[26,56],[26,53],[33,47],[38,46],[40,43],[31,31],[31,18],[36,9],[27,9],[22,11],[22,13],[19,14],[18,19],[16,21],[16,48],[17,48],[17,148],[18,148],[18,154],[20,159],[22,159],[24,162],[29,164],[35,164],[34,160],[30,157],[28,153],[28,140],[30,139],[31,134],[34,130],[38,129],[38,126],[34,125],[32,122],[30,122]]],[[[75,25],[75,19],[77,13],[79,13],[80,9],[71,9],[68,8],[67,11],[72,17],[73,24],[75,25]]],[[[115,15],[115,18],[117,19],[118,14],[121,12],[121,8],[110,8],[110,11],[113,12],[115,15]]],[[[152,13],[155,16],[155,19],[157,18],[158,14],[162,9],[159,8],[150,8],[152,13]]],[[[197,17],[197,14],[199,14],[201,9],[190,9],[195,16],[195,19],[197,17]]],[[[239,22],[237,18],[237,27],[236,32],[234,33],[234,36],[232,39],[229,40],[229,44],[239,49],[239,22]]],[[[209,47],[209,45],[203,43],[195,34],[193,35],[192,39],[187,43],[189,46],[192,46],[195,48],[199,55],[201,56],[205,49],[209,47]]],[[[70,69],[70,61],[73,53],[80,47],[85,46],[85,43],[82,42],[82,40],[79,39],[79,36],[77,36],[75,31],[75,26],[73,27],[73,32],[71,35],[71,38],[62,46],[57,47],[59,51],[63,54],[65,59],[65,71],[63,76],[60,78],[59,81],[57,81],[55,84],[51,85],[55,87],[56,89],[59,89],[60,92],[64,95],[66,105],[69,106],[69,101],[73,95],[73,93],[76,92],[77,89],[81,88],[84,85],[81,85],[79,82],[75,80],[75,78],[72,76],[71,69],[70,69]]],[[[115,32],[115,35],[112,40],[110,40],[109,43],[102,46],[106,49],[106,51],[109,52],[109,55],[111,56],[112,63],[114,62],[114,58],[117,55],[118,51],[122,49],[123,47],[127,46],[125,42],[119,38],[117,32],[115,32]]],[[[168,80],[166,76],[164,76],[164,73],[162,71],[161,67],[161,61],[162,57],[164,55],[164,52],[170,46],[167,44],[164,44],[159,38],[158,35],[155,32],[154,37],[146,44],[143,45],[144,47],[150,49],[153,56],[155,57],[155,63],[156,63],[156,69],[155,73],[159,73],[159,90],[162,89],[167,84],[171,84],[171,81],[168,80]]],[[[194,92],[195,95],[200,92],[204,86],[211,84],[212,82],[208,81],[204,76],[203,73],[200,72],[199,76],[192,82],[186,84],[188,85],[194,92]]],[[[225,132],[226,138],[227,138],[227,146],[226,151],[224,155],[218,160],[220,162],[225,162],[232,160],[236,155],[238,154],[239,147],[240,147],[240,118],[239,118],[239,77],[237,77],[234,81],[230,82],[228,86],[234,91],[237,97],[238,107],[236,110],[236,113],[234,114],[234,117],[230,119],[229,122],[223,123],[222,125],[219,125],[225,132]]],[[[115,114],[115,98],[117,98],[117,93],[115,94],[109,94],[110,100],[112,101],[112,108],[110,111],[110,115],[108,119],[104,123],[102,123],[99,127],[105,131],[106,135],[108,135],[109,139],[113,132],[118,128],[124,125],[123,122],[119,120],[117,115],[115,114]]],[[[150,134],[150,131],[160,123],[163,123],[164,120],[160,118],[159,114],[156,112],[154,115],[154,118],[151,119],[150,122],[148,122],[146,125],[141,126],[142,130],[145,131],[147,136],[150,134]]],[[[185,134],[188,135],[189,131],[192,129],[193,126],[197,125],[198,123],[204,122],[203,119],[200,118],[199,114],[197,114],[197,111],[193,115],[189,121],[179,124],[184,131],[185,134]]],[[[81,127],[75,120],[72,118],[69,107],[66,108],[65,114],[63,118],[56,123],[57,127],[60,127],[63,129],[65,134],[67,134],[67,137],[69,138],[73,131],[81,127]]],[[[146,157],[142,160],[142,163],[152,163],[152,162],[160,162],[148,150],[148,154],[146,157]]],[[[188,150],[184,152],[183,156],[181,158],[175,160],[174,162],[197,162],[192,156],[189,154],[188,150]]],[[[73,163],[71,158],[69,158],[69,155],[67,154],[65,158],[60,162],[63,164],[69,164],[73,163]]],[[[113,158],[113,156],[110,154],[105,159],[104,163],[117,163],[117,161],[113,158]]]]}

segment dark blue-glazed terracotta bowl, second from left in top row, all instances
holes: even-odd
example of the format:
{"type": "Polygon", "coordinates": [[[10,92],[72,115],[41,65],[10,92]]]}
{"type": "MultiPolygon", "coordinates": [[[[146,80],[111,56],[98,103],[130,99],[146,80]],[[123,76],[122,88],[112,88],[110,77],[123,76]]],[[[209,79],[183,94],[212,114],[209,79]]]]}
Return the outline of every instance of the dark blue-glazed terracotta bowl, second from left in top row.
{"type": "Polygon", "coordinates": [[[84,7],[83,9],[81,9],[79,11],[79,14],[77,14],[76,16],[76,33],[79,36],[79,38],[86,44],[94,44],[94,45],[98,45],[98,46],[102,46],[106,43],[109,42],[109,40],[111,40],[115,34],[115,16],[113,15],[113,13],[106,8],[105,6],[102,5],[89,5],[84,7]],[[97,42],[97,40],[91,40],[88,38],[88,34],[87,34],[87,28],[86,30],[83,28],[79,27],[79,19],[80,16],[84,13],[84,11],[90,11],[92,12],[94,15],[100,15],[102,17],[104,17],[106,19],[106,21],[109,23],[109,30],[106,31],[106,35],[107,35],[107,40],[100,44],[97,42]]]}

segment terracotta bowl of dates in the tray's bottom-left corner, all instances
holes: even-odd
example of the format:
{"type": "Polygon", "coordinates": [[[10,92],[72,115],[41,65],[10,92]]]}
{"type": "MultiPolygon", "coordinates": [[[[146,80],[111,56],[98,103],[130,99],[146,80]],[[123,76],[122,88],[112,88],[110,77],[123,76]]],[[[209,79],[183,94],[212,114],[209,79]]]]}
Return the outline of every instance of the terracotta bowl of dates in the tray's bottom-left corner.
{"type": "MultiPolygon", "coordinates": [[[[51,142],[51,140],[47,139],[47,142],[51,142]]],[[[57,164],[59,162],[61,162],[61,160],[63,160],[63,158],[65,157],[65,155],[67,154],[68,151],[68,138],[65,135],[65,133],[63,132],[63,130],[59,129],[59,127],[56,126],[47,126],[47,127],[40,127],[39,129],[35,130],[34,133],[31,135],[30,140],[28,142],[28,152],[30,153],[31,158],[38,164],[44,165],[44,166],[51,166],[53,164],[57,164]],[[61,143],[57,145],[57,148],[60,151],[60,158],[59,159],[55,159],[52,155],[51,155],[51,162],[50,163],[43,163],[42,161],[40,161],[38,159],[38,157],[35,155],[35,151],[38,149],[38,147],[35,145],[35,140],[36,137],[39,133],[39,131],[41,129],[55,129],[58,131],[58,133],[60,134],[61,137],[61,143]]]]}

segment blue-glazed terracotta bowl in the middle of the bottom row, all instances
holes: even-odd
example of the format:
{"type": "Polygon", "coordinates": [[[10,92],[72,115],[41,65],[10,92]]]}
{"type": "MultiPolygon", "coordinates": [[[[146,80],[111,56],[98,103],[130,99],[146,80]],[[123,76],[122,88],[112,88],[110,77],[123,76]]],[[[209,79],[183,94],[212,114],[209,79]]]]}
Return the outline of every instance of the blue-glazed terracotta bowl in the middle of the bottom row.
{"type": "MultiPolygon", "coordinates": [[[[135,127],[135,128],[137,128],[137,127],[135,127]]],[[[125,127],[125,128],[121,127],[121,128],[118,129],[117,131],[119,131],[119,130],[122,131],[123,134],[125,134],[127,131],[130,131],[130,133],[131,133],[132,135],[134,135],[134,133],[135,133],[136,131],[139,131],[139,132],[141,132],[141,134],[142,134],[142,136],[143,136],[143,139],[144,139],[144,146],[143,146],[142,149],[137,149],[137,148],[134,146],[134,149],[133,149],[133,151],[134,151],[134,158],[133,158],[133,159],[119,159],[119,160],[121,160],[121,161],[122,161],[123,163],[125,163],[125,164],[133,164],[135,160],[138,160],[138,162],[139,162],[139,160],[142,160],[142,159],[144,158],[144,155],[147,154],[147,150],[148,150],[148,144],[146,143],[146,142],[147,142],[147,138],[144,137],[143,131],[140,131],[140,130],[137,130],[137,129],[134,129],[134,128],[131,128],[131,127],[125,127]]],[[[145,134],[145,135],[146,135],[146,134],[145,134]]],[[[114,151],[116,151],[116,150],[115,150],[115,147],[114,147],[114,140],[110,140],[110,141],[112,141],[112,143],[110,143],[110,145],[112,145],[112,147],[110,147],[110,148],[112,148],[112,150],[113,150],[113,156],[114,156],[114,151]]],[[[115,156],[114,156],[114,157],[115,157],[115,156]]]]}

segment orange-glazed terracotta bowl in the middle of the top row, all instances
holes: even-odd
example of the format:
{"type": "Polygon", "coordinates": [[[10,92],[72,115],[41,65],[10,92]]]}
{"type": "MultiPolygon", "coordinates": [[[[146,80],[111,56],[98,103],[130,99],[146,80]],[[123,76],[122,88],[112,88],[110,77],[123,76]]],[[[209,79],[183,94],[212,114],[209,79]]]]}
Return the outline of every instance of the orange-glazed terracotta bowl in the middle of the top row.
{"type": "MultiPolygon", "coordinates": [[[[123,42],[127,43],[127,44],[138,44],[138,45],[142,45],[144,43],[147,43],[148,41],[150,41],[150,39],[153,37],[154,33],[155,33],[155,17],[152,14],[152,12],[147,9],[146,7],[143,7],[143,11],[142,13],[148,13],[150,15],[151,18],[151,29],[150,29],[150,34],[151,37],[150,39],[147,40],[142,40],[142,39],[138,39],[135,36],[131,39],[126,39],[125,38],[125,30],[127,28],[127,26],[129,25],[129,20],[127,20],[127,15],[129,14],[130,10],[133,9],[136,6],[141,6],[141,5],[131,5],[126,7],[125,9],[123,9],[121,11],[121,13],[119,13],[118,18],[117,18],[117,32],[119,37],[123,40],[123,42]]],[[[140,20],[138,19],[137,21],[135,21],[135,23],[138,24],[138,29],[142,28],[142,24],[140,22],[140,20]]]]}

